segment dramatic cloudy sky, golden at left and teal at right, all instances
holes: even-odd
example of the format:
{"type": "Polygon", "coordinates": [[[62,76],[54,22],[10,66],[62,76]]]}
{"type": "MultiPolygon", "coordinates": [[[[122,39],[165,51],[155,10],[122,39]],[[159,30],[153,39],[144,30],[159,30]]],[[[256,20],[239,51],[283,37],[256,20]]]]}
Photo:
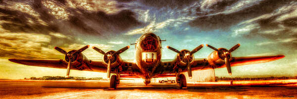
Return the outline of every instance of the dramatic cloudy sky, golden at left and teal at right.
{"type": "MultiPolygon", "coordinates": [[[[296,76],[297,1],[295,0],[0,0],[0,78],[65,76],[66,69],[26,66],[9,58],[64,59],[54,47],[69,51],[86,45],[118,50],[150,31],[166,49],[199,45],[230,49],[232,56],[285,55],[272,62],[215,69],[216,76],[296,76]]],[[[121,53],[134,59],[134,46],[121,53]]],[[[213,50],[204,46],[195,58],[213,50]]],[[[88,59],[102,59],[89,48],[88,59]]],[[[106,73],[71,70],[71,76],[105,77],[106,73]]]]}

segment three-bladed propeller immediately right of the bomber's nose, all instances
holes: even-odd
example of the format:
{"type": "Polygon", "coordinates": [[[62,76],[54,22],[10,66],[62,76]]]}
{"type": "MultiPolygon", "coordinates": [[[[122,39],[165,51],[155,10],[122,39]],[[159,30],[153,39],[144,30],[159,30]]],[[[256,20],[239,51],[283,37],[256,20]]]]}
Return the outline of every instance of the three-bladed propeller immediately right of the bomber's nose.
{"type": "Polygon", "coordinates": [[[189,78],[192,79],[192,69],[191,69],[191,64],[190,64],[190,56],[193,55],[195,52],[197,52],[198,50],[200,50],[201,48],[203,48],[203,45],[200,45],[198,46],[197,48],[193,49],[191,52],[185,52],[185,53],[182,53],[181,51],[177,50],[177,49],[174,49],[172,47],[169,47],[167,46],[168,49],[176,52],[176,53],[179,53],[180,55],[182,55],[185,59],[187,59],[187,62],[186,62],[186,68],[187,68],[187,71],[188,71],[188,75],[189,75],[189,78]]]}

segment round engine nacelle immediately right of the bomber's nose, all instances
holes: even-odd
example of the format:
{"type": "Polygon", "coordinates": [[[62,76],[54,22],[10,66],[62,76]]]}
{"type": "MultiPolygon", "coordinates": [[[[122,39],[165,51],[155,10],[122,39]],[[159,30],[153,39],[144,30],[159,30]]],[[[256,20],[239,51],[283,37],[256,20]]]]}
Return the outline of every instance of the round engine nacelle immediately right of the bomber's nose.
{"type": "MultiPolygon", "coordinates": [[[[182,53],[190,53],[190,50],[182,49],[181,52],[182,53]]],[[[194,62],[194,59],[195,59],[194,55],[193,54],[190,55],[190,64],[192,64],[194,62]]],[[[185,57],[183,55],[178,53],[173,61],[174,61],[174,63],[177,62],[177,65],[179,67],[186,68],[187,60],[185,59],[185,57]]]]}

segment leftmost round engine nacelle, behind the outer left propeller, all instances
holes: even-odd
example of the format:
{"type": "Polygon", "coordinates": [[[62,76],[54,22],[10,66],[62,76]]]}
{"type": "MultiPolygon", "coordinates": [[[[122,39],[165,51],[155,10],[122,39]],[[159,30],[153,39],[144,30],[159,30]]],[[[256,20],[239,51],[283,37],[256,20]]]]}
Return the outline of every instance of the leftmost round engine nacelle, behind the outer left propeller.
{"type": "MultiPolygon", "coordinates": [[[[76,50],[71,50],[68,53],[73,53],[76,50]]],[[[83,54],[83,53],[76,53],[73,55],[74,58],[71,58],[71,65],[72,67],[86,67],[88,63],[88,58],[83,54]]],[[[69,62],[69,57],[65,55],[65,60],[68,63],[69,62]]],[[[81,68],[83,69],[83,68],[81,68]]]]}

